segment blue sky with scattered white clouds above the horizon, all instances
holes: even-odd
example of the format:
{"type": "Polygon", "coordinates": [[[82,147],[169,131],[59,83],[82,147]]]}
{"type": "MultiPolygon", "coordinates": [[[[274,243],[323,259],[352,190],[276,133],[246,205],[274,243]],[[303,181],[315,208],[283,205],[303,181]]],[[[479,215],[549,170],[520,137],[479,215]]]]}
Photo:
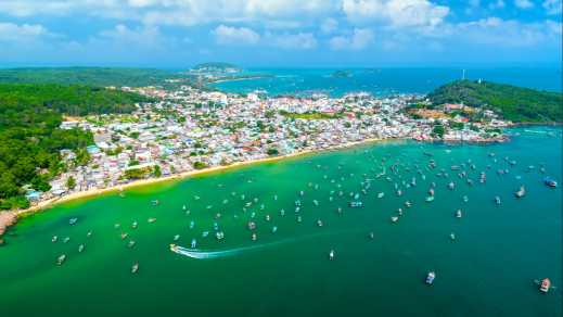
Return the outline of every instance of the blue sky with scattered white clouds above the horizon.
{"type": "Polygon", "coordinates": [[[0,65],[561,65],[562,0],[0,0],[0,65]]]}

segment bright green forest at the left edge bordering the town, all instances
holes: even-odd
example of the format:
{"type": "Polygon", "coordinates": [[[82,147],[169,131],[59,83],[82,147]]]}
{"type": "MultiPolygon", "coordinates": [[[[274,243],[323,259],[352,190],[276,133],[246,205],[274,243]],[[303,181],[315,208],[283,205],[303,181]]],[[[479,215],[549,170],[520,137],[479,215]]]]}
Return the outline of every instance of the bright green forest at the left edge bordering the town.
{"type": "Polygon", "coordinates": [[[0,208],[26,207],[23,187],[49,190],[65,168],[59,151],[75,150],[84,163],[93,142],[82,130],[63,130],[63,114],[130,113],[148,99],[129,92],[81,85],[0,84],[0,208]]]}

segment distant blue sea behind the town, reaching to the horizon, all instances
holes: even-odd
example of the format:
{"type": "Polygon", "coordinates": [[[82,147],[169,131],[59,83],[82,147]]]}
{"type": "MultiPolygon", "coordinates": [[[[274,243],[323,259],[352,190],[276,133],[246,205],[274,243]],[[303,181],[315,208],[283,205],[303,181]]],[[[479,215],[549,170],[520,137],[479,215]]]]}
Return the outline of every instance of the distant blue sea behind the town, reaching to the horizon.
{"type": "MultiPolygon", "coordinates": [[[[462,68],[251,68],[246,74],[268,75],[263,78],[222,81],[212,85],[227,92],[248,93],[256,90],[269,96],[310,96],[325,93],[341,97],[348,92],[370,92],[374,96],[427,93],[435,88],[460,79],[462,68]],[[347,77],[334,76],[337,71],[347,77]]],[[[472,67],[465,78],[510,84],[549,91],[562,91],[561,67],[472,67]]]]}

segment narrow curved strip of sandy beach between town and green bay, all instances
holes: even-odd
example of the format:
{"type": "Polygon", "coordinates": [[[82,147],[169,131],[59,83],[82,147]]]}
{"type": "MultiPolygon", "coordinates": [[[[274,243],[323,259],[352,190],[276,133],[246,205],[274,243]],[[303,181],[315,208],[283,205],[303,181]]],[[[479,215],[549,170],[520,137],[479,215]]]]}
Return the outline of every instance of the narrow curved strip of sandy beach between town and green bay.
{"type": "Polygon", "coordinates": [[[347,149],[347,148],[353,148],[353,147],[369,144],[369,143],[376,143],[376,142],[384,142],[384,141],[398,141],[398,140],[404,140],[404,138],[389,138],[389,139],[370,138],[370,139],[364,139],[361,141],[354,141],[354,142],[343,143],[340,145],[329,147],[325,149],[303,150],[303,151],[298,151],[298,152],[294,152],[294,153],[290,153],[290,154],[285,154],[285,155],[263,157],[263,158],[249,160],[249,161],[243,161],[243,162],[235,162],[235,163],[229,164],[229,165],[221,165],[221,166],[207,167],[207,168],[203,168],[203,169],[182,172],[182,173],[178,173],[178,174],[166,176],[166,177],[139,179],[139,180],[133,180],[128,183],[112,186],[112,187],[107,187],[107,188],[90,189],[90,190],[86,190],[86,191],[74,192],[74,193],[59,196],[59,198],[53,198],[53,199],[50,199],[47,201],[39,202],[37,205],[30,206],[25,210],[0,212],[0,245],[3,243],[3,240],[1,239],[3,233],[5,233],[5,231],[8,230],[9,227],[14,226],[20,218],[33,215],[35,213],[39,213],[43,210],[50,208],[57,204],[62,204],[62,203],[66,203],[66,202],[71,202],[71,201],[75,201],[75,200],[79,200],[79,199],[85,199],[85,198],[93,198],[93,196],[102,195],[102,194],[110,193],[110,192],[118,192],[118,191],[121,191],[125,189],[130,189],[130,188],[136,188],[136,187],[143,187],[143,186],[172,181],[172,180],[181,180],[181,179],[196,176],[196,175],[205,175],[205,174],[210,174],[210,173],[215,173],[215,172],[234,169],[236,167],[242,167],[242,166],[247,166],[247,165],[272,163],[272,162],[283,161],[286,158],[305,156],[308,154],[336,151],[336,150],[342,150],[342,149],[347,149]]]}

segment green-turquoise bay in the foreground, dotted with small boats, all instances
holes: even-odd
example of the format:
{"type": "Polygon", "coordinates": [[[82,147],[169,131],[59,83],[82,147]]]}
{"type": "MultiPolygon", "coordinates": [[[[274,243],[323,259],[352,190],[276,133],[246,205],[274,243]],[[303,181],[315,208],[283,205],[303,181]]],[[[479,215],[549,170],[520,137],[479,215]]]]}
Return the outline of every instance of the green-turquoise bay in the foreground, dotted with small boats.
{"type": "Polygon", "coordinates": [[[542,181],[563,180],[562,129],[510,134],[500,144],[364,144],[57,205],[9,230],[0,316],[562,316],[562,189],[542,181]],[[355,195],[363,207],[348,206],[355,195]],[[214,257],[169,250],[192,239],[214,257]],[[556,289],[542,294],[535,280],[546,277],[556,289]]]}

